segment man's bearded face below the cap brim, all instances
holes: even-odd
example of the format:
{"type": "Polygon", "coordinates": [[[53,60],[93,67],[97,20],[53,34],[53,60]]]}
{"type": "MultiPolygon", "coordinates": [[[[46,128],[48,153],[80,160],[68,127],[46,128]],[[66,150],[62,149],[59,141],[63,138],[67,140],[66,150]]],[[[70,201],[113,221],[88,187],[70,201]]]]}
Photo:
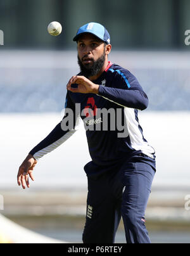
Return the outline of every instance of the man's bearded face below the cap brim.
{"type": "Polygon", "coordinates": [[[86,77],[97,75],[105,64],[105,43],[92,34],[84,34],[77,42],[77,49],[80,70],[86,77]]]}

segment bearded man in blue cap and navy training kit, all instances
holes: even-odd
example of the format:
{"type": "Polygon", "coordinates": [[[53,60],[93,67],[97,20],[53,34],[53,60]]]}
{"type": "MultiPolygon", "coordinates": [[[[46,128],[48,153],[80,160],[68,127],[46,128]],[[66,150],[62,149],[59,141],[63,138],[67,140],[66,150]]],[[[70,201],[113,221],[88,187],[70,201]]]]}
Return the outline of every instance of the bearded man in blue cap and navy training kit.
{"type": "Polygon", "coordinates": [[[37,160],[70,138],[82,118],[92,158],[84,167],[89,190],[84,243],[114,243],[121,217],[127,243],[150,243],[144,214],[156,171],[155,150],[144,139],[137,116],[138,110],[147,108],[148,97],[134,75],[108,61],[111,44],[105,27],[88,23],[73,41],[81,70],[66,86],[65,109],[73,115],[65,113],[62,122],[30,151],[18,171],[18,185],[30,186],[28,176],[34,180],[37,160]],[[98,116],[103,109],[112,111],[109,117],[98,116]]]}

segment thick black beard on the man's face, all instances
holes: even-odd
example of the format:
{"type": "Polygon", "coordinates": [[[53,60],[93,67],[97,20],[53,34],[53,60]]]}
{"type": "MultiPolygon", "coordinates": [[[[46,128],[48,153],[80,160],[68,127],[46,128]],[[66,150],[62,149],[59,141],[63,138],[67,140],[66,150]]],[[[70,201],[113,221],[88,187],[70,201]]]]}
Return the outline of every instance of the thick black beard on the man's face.
{"type": "Polygon", "coordinates": [[[94,75],[98,75],[101,68],[103,68],[103,65],[105,64],[106,60],[106,53],[104,52],[103,55],[96,61],[93,61],[92,66],[89,65],[83,65],[82,61],[80,61],[79,55],[78,55],[78,64],[80,67],[80,72],[82,72],[82,75],[84,77],[93,77],[94,75]]]}

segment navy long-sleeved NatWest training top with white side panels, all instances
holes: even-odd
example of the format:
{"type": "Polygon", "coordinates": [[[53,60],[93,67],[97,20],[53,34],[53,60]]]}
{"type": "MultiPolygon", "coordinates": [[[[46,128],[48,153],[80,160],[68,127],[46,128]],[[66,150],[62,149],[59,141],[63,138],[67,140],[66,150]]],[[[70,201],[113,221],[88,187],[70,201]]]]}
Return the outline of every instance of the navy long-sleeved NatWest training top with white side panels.
{"type": "Polygon", "coordinates": [[[65,112],[60,124],[30,154],[39,160],[53,151],[77,131],[82,120],[92,158],[84,167],[87,174],[110,170],[126,161],[146,162],[156,171],[155,150],[144,138],[138,119],[138,110],[148,106],[148,96],[136,77],[110,63],[93,82],[99,84],[98,94],[67,91],[65,108],[73,112],[71,126],[65,129],[71,119],[65,112]]]}

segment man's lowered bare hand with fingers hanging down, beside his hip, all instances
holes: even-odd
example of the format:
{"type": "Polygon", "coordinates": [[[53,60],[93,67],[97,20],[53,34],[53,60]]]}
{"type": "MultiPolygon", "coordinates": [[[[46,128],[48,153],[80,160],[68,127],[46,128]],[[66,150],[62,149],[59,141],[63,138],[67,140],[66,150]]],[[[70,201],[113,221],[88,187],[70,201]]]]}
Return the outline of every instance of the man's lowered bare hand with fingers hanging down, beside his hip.
{"type": "Polygon", "coordinates": [[[32,174],[35,165],[37,164],[37,160],[32,155],[28,155],[27,158],[24,160],[22,165],[20,165],[20,168],[18,170],[18,176],[17,176],[17,182],[18,186],[22,184],[22,188],[25,189],[27,185],[28,188],[30,188],[29,184],[29,178],[34,181],[34,176],[32,174]]]}

